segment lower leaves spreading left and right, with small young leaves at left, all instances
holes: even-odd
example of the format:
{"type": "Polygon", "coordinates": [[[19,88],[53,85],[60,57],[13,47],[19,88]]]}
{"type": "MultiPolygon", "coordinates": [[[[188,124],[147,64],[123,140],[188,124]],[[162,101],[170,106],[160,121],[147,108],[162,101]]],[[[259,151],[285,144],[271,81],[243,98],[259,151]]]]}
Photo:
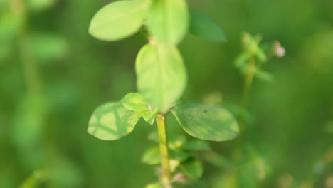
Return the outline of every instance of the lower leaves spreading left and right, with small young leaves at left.
{"type": "MultiPolygon", "coordinates": [[[[148,107],[147,112],[144,109],[147,105],[138,96],[130,93],[122,103],[106,103],[97,108],[90,118],[88,132],[101,140],[117,140],[132,132],[141,117],[152,124],[157,110],[148,107]]],[[[239,132],[233,115],[216,105],[182,103],[171,113],[189,135],[201,140],[231,140],[239,132]]]]}

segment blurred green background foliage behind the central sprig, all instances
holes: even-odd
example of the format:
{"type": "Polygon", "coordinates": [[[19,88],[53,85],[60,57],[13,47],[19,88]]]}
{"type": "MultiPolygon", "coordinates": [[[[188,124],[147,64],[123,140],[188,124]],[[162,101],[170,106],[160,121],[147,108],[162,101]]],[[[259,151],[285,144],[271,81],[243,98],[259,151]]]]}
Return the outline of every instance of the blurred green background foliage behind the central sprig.
{"type": "MultiPolygon", "coordinates": [[[[140,121],[115,142],[86,132],[93,110],[134,92],[134,59],[145,38],[118,42],[88,35],[93,14],[110,1],[0,0],[0,187],[144,187],[154,168],[141,162],[156,129],[140,121]],[[37,181],[39,182],[39,181],[37,181]]],[[[206,187],[333,187],[333,1],[190,0],[228,36],[209,43],[187,36],[184,100],[221,96],[239,104],[243,76],[233,62],[242,31],[278,40],[286,56],[255,80],[251,123],[238,140],[211,143],[218,164],[205,163],[206,187]],[[227,162],[218,162],[226,160],[227,162]],[[227,163],[223,165],[224,163],[227,163]]],[[[172,117],[170,134],[184,134],[172,117]]],[[[204,154],[203,154],[204,155],[204,154]]],[[[211,159],[213,160],[213,159],[211,159]]]]}

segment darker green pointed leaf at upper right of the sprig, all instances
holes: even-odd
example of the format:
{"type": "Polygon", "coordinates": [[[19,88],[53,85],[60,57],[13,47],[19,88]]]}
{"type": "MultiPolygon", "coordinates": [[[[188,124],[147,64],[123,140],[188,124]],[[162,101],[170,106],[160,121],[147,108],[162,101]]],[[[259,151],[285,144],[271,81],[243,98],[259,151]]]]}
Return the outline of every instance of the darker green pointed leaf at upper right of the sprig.
{"type": "Polygon", "coordinates": [[[206,14],[200,11],[190,9],[191,22],[189,31],[200,38],[213,42],[226,41],[226,33],[218,23],[211,20],[206,14]]]}

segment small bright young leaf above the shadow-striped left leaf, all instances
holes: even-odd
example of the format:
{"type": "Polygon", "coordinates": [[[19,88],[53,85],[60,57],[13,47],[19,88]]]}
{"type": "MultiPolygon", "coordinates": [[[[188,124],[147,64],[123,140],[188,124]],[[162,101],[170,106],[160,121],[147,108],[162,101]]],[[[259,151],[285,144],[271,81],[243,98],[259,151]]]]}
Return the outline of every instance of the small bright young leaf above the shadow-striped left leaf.
{"type": "Polygon", "coordinates": [[[139,93],[128,93],[124,98],[122,98],[121,102],[127,110],[147,110],[146,102],[139,93]]]}

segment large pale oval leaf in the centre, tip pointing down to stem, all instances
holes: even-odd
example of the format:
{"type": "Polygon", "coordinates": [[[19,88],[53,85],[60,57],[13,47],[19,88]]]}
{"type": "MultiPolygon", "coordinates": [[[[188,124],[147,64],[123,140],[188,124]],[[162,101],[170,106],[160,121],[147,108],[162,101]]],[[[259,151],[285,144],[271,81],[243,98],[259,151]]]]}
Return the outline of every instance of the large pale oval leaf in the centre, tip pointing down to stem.
{"type": "Polygon", "coordinates": [[[177,48],[147,44],[137,56],[137,89],[144,100],[165,114],[186,88],[186,69],[177,48]]]}

